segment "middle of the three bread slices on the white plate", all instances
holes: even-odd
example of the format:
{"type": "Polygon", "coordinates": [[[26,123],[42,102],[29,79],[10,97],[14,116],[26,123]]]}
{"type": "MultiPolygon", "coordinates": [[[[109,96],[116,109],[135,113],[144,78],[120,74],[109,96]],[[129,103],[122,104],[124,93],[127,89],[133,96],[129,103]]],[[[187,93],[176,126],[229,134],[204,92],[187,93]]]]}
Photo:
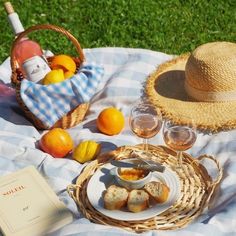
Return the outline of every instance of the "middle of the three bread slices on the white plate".
{"type": "Polygon", "coordinates": [[[149,195],[142,189],[134,189],[129,193],[127,207],[129,211],[140,212],[149,207],[149,195]]]}

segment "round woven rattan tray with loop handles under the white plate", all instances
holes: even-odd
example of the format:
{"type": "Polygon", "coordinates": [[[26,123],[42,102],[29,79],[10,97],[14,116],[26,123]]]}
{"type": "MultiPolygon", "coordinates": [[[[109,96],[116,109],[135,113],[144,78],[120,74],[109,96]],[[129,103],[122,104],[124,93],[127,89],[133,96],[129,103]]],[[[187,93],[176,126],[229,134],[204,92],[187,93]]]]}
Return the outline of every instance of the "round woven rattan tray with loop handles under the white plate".
{"type": "MultiPolygon", "coordinates": [[[[181,194],[175,204],[165,212],[145,220],[120,221],[98,212],[89,202],[87,197],[87,184],[91,176],[108,163],[111,159],[130,158],[133,151],[140,151],[142,145],[123,146],[115,151],[101,155],[90,162],[78,176],[75,185],[69,185],[68,193],[77,203],[79,210],[91,222],[104,225],[121,227],[137,233],[149,230],[174,230],[182,228],[196,219],[207,208],[215,188],[222,178],[222,168],[218,161],[208,155],[193,158],[183,154],[183,168],[175,168],[177,165],[176,152],[164,146],[149,145],[150,157],[153,161],[161,162],[171,168],[179,176],[181,194]],[[207,169],[201,164],[203,159],[211,160],[216,167],[217,177],[214,179],[208,174],[207,169]]],[[[96,190],[95,190],[96,191],[96,190]]],[[[138,214],[138,213],[134,213],[138,214]]]]}

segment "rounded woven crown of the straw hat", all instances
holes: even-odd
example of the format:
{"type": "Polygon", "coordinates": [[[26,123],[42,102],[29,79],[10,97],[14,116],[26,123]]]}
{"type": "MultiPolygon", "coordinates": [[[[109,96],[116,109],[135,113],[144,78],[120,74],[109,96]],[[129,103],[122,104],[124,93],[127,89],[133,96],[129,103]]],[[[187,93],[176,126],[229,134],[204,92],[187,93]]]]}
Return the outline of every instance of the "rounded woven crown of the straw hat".
{"type": "Polygon", "coordinates": [[[217,93],[236,93],[236,44],[212,42],[199,46],[188,58],[185,77],[187,93],[197,100],[211,101],[217,93]]]}

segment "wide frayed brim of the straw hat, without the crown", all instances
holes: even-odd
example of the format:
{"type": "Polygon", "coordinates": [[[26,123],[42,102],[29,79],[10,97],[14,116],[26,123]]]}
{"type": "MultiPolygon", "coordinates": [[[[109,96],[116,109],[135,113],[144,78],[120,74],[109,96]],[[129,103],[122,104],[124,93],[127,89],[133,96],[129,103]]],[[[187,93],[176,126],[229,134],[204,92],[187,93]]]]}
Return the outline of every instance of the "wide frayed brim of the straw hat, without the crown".
{"type": "Polygon", "coordinates": [[[236,101],[193,101],[185,89],[185,65],[190,54],[184,54],[160,65],[147,79],[146,93],[158,106],[164,118],[178,124],[194,120],[200,130],[219,132],[236,128],[236,101]]]}

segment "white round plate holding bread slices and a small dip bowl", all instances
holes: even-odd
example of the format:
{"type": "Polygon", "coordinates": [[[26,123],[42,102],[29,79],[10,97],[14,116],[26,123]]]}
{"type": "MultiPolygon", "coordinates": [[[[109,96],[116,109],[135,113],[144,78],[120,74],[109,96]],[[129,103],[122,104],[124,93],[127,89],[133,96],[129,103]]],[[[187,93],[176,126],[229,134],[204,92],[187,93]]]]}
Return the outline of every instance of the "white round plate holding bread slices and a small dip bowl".
{"type": "Polygon", "coordinates": [[[164,173],[153,172],[151,181],[157,180],[165,183],[170,188],[170,193],[167,201],[162,204],[155,204],[148,209],[133,213],[126,209],[122,210],[107,210],[104,208],[103,194],[104,191],[111,185],[116,184],[114,176],[109,174],[109,171],[114,168],[111,164],[106,164],[98,169],[89,180],[87,186],[87,195],[92,206],[102,214],[117,220],[133,221],[144,220],[154,217],[168,208],[170,208],[180,196],[180,181],[175,172],[166,168],[164,173]]]}

